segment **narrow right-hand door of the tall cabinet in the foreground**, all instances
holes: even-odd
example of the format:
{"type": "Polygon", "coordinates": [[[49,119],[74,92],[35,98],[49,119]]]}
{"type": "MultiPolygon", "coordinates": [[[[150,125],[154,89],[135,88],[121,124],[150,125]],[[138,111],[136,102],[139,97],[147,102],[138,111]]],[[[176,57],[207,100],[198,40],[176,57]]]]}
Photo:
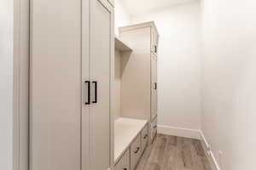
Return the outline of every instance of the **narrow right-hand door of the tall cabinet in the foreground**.
{"type": "Polygon", "coordinates": [[[90,170],[110,167],[110,71],[113,8],[90,0],[90,170]]]}

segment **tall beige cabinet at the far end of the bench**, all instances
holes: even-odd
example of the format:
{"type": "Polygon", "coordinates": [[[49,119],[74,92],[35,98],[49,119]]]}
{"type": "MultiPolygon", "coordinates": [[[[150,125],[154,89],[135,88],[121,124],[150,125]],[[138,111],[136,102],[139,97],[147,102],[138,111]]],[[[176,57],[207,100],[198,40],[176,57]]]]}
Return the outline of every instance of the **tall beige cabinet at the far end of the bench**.
{"type": "MultiPolygon", "coordinates": [[[[159,34],[154,22],[146,22],[120,27],[119,36],[132,48],[132,53],[123,54],[121,60],[120,116],[145,119],[150,125],[157,117],[159,34]]],[[[151,131],[151,126],[148,129],[151,131]]]]}

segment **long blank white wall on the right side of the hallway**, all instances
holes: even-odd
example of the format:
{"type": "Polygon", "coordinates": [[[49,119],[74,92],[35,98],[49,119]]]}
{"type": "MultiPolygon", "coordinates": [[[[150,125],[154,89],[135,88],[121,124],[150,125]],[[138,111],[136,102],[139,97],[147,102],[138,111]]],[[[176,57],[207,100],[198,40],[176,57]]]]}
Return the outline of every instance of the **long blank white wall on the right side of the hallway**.
{"type": "Polygon", "coordinates": [[[252,0],[203,5],[202,130],[223,170],[255,169],[255,8],[252,0]]]}

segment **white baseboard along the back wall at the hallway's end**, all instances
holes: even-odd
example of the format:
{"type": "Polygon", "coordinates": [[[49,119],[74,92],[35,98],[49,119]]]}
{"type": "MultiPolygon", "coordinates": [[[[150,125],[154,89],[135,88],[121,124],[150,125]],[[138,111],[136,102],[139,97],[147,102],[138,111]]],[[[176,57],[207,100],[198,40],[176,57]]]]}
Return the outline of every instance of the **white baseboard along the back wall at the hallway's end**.
{"type": "Polygon", "coordinates": [[[201,131],[182,127],[169,127],[164,125],[157,125],[158,133],[167,135],[179,136],[191,139],[201,139],[201,131]]]}

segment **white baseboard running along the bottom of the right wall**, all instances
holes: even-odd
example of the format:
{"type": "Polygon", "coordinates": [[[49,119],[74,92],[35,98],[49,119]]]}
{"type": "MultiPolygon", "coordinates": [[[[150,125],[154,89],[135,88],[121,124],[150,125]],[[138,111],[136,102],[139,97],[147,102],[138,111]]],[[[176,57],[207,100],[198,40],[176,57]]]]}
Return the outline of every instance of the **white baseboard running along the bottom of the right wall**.
{"type": "Polygon", "coordinates": [[[221,170],[220,167],[218,166],[218,162],[216,161],[214,154],[212,153],[212,150],[208,150],[208,148],[210,148],[210,145],[207,142],[207,139],[205,138],[205,135],[202,133],[202,131],[201,131],[201,144],[203,146],[203,149],[205,150],[205,153],[207,155],[208,161],[210,162],[212,170],[221,170]]]}

